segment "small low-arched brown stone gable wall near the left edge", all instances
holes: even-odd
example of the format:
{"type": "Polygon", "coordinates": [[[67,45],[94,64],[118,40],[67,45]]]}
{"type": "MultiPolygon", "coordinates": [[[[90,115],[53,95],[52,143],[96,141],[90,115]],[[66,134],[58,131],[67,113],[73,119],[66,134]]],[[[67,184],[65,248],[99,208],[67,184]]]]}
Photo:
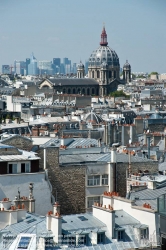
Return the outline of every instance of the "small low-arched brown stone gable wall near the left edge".
{"type": "Polygon", "coordinates": [[[19,135],[11,136],[3,140],[1,143],[27,151],[30,151],[33,146],[31,139],[19,135]]]}

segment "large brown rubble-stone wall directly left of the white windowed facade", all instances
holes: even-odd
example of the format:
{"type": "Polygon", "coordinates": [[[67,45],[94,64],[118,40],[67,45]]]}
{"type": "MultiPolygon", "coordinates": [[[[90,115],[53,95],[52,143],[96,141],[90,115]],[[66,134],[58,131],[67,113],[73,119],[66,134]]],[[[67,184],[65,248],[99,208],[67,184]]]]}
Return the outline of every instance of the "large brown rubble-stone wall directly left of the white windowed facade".
{"type": "MultiPolygon", "coordinates": [[[[38,150],[40,168],[44,166],[44,149],[38,150]]],[[[46,167],[52,194],[61,205],[61,214],[85,212],[85,166],[60,166],[59,148],[46,148],[46,167]]]]}

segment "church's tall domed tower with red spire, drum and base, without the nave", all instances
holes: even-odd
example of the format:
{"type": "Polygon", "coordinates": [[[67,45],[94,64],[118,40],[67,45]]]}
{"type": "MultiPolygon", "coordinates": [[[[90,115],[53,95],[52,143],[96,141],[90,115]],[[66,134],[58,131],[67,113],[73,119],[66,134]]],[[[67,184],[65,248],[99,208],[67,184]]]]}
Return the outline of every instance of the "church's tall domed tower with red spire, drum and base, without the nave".
{"type": "Polygon", "coordinates": [[[99,83],[99,95],[104,96],[117,87],[117,81],[120,79],[119,73],[119,57],[108,46],[107,33],[103,27],[100,46],[92,52],[89,58],[88,76],[99,83]]]}

